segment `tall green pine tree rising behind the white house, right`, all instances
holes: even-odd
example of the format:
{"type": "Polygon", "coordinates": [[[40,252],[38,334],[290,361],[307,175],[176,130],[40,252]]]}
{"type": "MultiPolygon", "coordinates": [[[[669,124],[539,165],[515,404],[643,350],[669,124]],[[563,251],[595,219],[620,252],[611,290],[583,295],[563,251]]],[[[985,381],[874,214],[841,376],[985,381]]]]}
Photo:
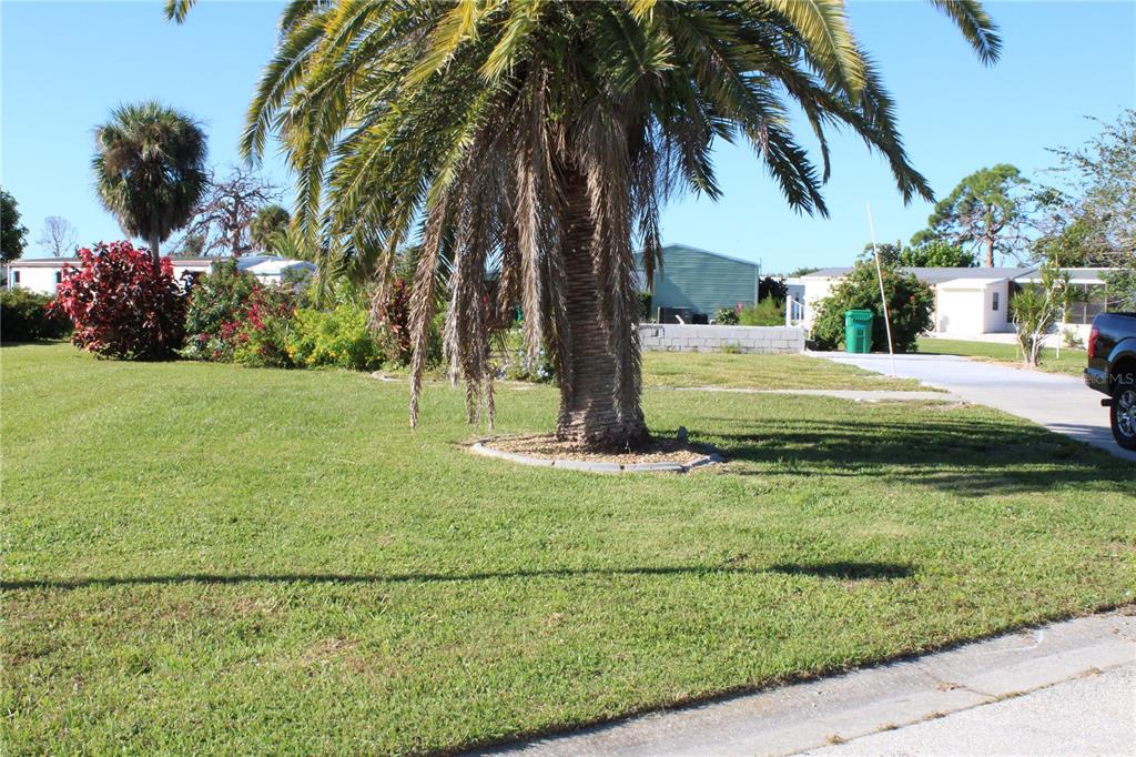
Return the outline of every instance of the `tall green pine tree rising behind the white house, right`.
{"type": "Polygon", "coordinates": [[[935,205],[927,228],[911,238],[912,246],[930,241],[969,246],[984,253],[991,268],[995,255],[1022,257],[1027,184],[1008,164],[976,170],[935,205]]]}

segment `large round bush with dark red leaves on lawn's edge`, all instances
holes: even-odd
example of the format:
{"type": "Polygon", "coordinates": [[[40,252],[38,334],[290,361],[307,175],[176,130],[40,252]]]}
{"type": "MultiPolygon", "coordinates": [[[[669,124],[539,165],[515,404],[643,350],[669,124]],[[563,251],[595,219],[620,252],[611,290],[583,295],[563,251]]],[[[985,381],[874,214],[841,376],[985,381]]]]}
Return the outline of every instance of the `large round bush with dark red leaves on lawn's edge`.
{"type": "Polygon", "coordinates": [[[72,342],[124,359],[174,355],[185,334],[185,298],[169,258],[154,271],[150,255],[130,242],[83,248],[78,257],[78,268],[64,266],[51,305],[75,325],[72,342]]]}

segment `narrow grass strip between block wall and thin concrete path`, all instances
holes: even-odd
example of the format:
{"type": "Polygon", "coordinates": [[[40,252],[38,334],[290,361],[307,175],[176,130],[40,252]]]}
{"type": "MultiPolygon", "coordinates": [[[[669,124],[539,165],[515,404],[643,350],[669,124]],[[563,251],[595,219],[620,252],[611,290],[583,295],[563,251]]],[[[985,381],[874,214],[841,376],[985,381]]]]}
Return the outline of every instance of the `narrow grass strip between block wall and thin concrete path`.
{"type": "MultiPolygon", "coordinates": [[[[882,376],[802,355],[644,352],[643,385],[726,389],[927,390],[910,378],[882,376]]],[[[935,391],[935,390],[932,390],[935,391]]]]}

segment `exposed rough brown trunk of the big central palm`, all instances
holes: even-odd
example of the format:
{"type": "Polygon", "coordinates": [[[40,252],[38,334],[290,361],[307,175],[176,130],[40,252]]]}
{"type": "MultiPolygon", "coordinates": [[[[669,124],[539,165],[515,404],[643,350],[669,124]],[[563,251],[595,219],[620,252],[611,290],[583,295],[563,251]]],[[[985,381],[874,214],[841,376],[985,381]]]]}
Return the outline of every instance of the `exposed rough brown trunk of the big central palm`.
{"type": "Polygon", "coordinates": [[[574,177],[566,184],[565,300],[570,349],[562,359],[570,383],[563,385],[562,382],[560,388],[557,438],[590,449],[626,451],[642,447],[649,436],[637,382],[625,390],[620,401],[616,376],[620,360],[637,361],[640,356],[637,350],[633,355],[618,356],[609,348],[601,322],[600,282],[592,265],[594,224],[587,188],[583,177],[574,177]]]}

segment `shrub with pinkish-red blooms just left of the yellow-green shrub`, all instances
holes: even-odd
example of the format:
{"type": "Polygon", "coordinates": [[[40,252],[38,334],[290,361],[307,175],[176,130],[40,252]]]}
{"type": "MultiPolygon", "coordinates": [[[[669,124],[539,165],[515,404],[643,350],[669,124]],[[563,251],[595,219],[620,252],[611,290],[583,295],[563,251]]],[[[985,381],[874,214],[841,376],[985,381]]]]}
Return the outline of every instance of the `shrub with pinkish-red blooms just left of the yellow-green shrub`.
{"type": "Polygon", "coordinates": [[[287,286],[254,283],[233,338],[233,361],[291,368],[289,343],[295,330],[296,296],[287,286]]]}

